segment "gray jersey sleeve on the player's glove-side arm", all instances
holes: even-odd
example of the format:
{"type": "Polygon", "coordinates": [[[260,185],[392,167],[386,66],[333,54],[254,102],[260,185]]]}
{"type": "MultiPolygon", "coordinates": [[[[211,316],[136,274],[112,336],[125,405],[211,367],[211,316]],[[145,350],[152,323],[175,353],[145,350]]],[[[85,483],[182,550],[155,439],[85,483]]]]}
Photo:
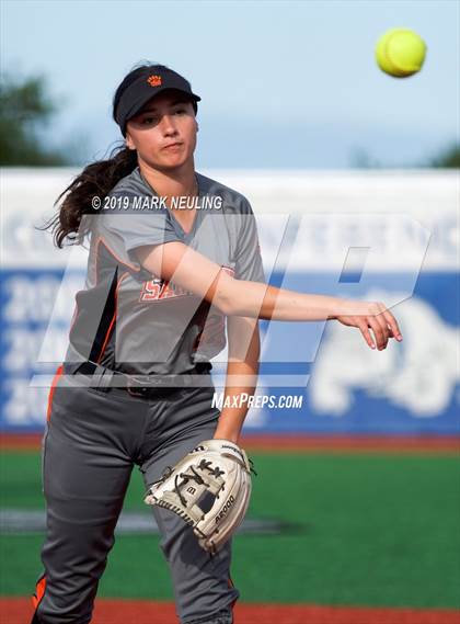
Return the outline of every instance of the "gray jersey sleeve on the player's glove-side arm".
{"type": "Polygon", "coordinates": [[[266,282],[258,243],[257,224],[248,201],[244,202],[244,211],[242,213],[234,272],[238,280],[266,282]]]}

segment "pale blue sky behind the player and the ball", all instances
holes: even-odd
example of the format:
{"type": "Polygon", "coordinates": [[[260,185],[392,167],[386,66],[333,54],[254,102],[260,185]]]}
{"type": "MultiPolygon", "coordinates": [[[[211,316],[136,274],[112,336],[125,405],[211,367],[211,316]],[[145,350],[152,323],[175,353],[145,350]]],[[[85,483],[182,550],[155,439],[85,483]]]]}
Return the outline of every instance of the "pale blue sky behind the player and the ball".
{"type": "Polygon", "coordinates": [[[459,138],[459,24],[457,0],[2,0],[1,69],[46,77],[45,140],[81,162],[122,138],[113,93],[149,60],[202,97],[198,170],[416,167],[459,138]],[[395,26],[428,47],[411,78],[375,63],[395,26]]]}

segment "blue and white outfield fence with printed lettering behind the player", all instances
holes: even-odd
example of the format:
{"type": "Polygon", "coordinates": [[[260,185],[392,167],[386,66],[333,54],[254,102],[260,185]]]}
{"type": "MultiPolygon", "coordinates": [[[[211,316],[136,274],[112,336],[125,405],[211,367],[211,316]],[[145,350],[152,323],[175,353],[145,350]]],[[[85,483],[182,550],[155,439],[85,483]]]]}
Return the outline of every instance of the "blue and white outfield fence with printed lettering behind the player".
{"type": "MultiPolygon", "coordinates": [[[[41,215],[50,215],[53,201],[72,173],[66,169],[3,173],[3,432],[43,430],[49,388],[31,382],[37,374],[53,376],[67,347],[74,293],[84,281],[85,251],[80,250],[80,260],[69,265],[69,254],[54,250],[50,237],[33,226],[41,223],[41,215]],[[26,190],[24,175],[30,184],[26,190]]],[[[383,300],[393,307],[404,336],[401,344],[373,352],[357,330],[335,321],[325,327],[261,321],[260,385],[246,431],[459,435],[457,177],[447,172],[208,174],[250,198],[272,284],[306,293],[383,300]],[[288,201],[279,217],[284,193],[288,201]],[[329,218],[333,213],[340,213],[338,225],[329,218]],[[406,227],[407,223],[401,222],[401,228],[388,226],[387,240],[382,241],[382,224],[395,213],[409,214],[427,236],[421,235],[417,226],[406,227]],[[383,220],[367,222],[369,214],[383,220]],[[286,215],[291,215],[290,220],[286,215]],[[298,219],[306,215],[309,219],[302,227],[309,241],[302,235],[291,245],[289,227],[292,229],[294,224],[298,236],[298,219]],[[357,224],[365,224],[359,235],[357,224]],[[400,230],[405,238],[395,242],[400,230]],[[354,247],[379,248],[380,252],[384,248],[383,270],[377,253],[373,260],[368,259],[368,268],[355,266],[344,280],[346,250],[354,247]],[[291,405],[285,407],[289,401],[291,405]]],[[[219,378],[217,396],[222,390],[226,352],[214,364],[219,378]]]]}

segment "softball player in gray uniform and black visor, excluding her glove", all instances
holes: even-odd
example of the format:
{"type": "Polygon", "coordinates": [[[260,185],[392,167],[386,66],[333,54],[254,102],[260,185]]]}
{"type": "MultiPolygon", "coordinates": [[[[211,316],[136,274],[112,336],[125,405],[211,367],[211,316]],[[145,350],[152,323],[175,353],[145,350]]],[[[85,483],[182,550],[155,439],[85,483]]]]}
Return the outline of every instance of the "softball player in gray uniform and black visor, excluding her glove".
{"type": "MultiPolygon", "coordinates": [[[[123,148],[83,170],[53,220],[59,247],[87,237],[90,247],[69,348],[49,394],[47,534],[33,624],[91,621],[135,465],[149,486],[203,440],[238,443],[246,409],[212,407],[209,360],[226,345],[226,320],[225,396],[254,392],[258,318],[337,319],[378,349],[401,340],[382,304],[265,284],[250,204],[195,171],[198,101],[164,66],[129,72],[113,102],[123,148]],[[176,197],[196,202],[181,211],[176,197]],[[215,205],[198,209],[209,198],[215,205]]],[[[175,513],[153,513],[180,622],[231,624],[239,597],[231,541],[210,556],[175,513]]]]}

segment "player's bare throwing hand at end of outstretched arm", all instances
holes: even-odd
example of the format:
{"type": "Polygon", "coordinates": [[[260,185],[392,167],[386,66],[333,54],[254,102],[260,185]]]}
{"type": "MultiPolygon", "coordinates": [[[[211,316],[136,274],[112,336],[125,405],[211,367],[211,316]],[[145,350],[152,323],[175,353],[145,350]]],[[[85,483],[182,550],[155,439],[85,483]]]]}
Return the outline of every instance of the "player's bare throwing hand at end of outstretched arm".
{"type": "Polygon", "coordinates": [[[402,340],[396,319],[380,302],[344,299],[334,318],[347,327],[357,327],[371,349],[382,351],[390,338],[402,340]]]}

